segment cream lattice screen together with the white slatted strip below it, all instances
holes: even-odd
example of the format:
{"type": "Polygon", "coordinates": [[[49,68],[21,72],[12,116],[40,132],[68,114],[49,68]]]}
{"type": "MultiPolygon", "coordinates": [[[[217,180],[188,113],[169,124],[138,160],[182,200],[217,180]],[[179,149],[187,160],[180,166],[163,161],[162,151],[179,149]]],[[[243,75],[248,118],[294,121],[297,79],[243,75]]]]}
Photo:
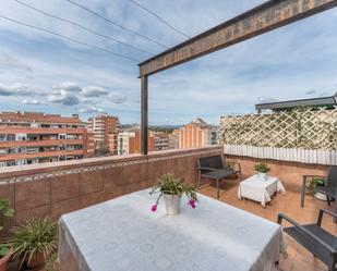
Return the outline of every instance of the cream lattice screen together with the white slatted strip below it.
{"type": "Polygon", "coordinates": [[[336,163],[337,107],[222,116],[219,132],[228,155],[336,163]]]}

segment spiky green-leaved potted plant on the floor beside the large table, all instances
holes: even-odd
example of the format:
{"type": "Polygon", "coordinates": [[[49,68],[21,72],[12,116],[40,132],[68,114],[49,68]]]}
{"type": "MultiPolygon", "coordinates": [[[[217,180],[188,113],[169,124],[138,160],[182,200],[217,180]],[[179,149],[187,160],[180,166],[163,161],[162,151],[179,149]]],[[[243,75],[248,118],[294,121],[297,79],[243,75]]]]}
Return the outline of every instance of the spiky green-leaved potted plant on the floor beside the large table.
{"type": "Polygon", "coordinates": [[[29,218],[17,226],[9,242],[14,258],[28,269],[43,267],[57,248],[57,223],[49,218],[29,218]]]}

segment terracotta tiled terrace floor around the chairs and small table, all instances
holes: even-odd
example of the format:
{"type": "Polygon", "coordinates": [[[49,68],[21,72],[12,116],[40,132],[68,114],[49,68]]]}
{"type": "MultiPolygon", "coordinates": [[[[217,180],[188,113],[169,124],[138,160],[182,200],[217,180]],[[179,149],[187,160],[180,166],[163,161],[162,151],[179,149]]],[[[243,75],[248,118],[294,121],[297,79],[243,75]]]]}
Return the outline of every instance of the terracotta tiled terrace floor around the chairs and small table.
{"type": "MultiPolygon", "coordinates": [[[[287,188],[287,187],[286,187],[287,188]]],[[[213,186],[203,186],[201,193],[216,198],[216,188],[213,186]]],[[[300,193],[287,192],[285,196],[278,194],[267,206],[263,208],[258,202],[251,200],[240,200],[238,198],[238,181],[226,181],[222,183],[222,190],[219,200],[236,206],[240,209],[254,213],[258,217],[270,221],[277,220],[277,214],[284,212],[300,224],[313,223],[317,219],[318,210],[333,210],[334,204],[330,207],[326,202],[305,197],[304,208],[300,207],[300,193]]],[[[285,224],[287,225],[287,224],[285,224]]],[[[337,233],[337,226],[333,223],[330,217],[326,215],[323,220],[323,226],[330,233],[337,233]]],[[[279,267],[276,270],[281,271],[325,271],[326,266],[318,259],[313,257],[301,245],[296,243],[290,237],[286,237],[288,245],[288,257],[280,257],[279,267]]]]}

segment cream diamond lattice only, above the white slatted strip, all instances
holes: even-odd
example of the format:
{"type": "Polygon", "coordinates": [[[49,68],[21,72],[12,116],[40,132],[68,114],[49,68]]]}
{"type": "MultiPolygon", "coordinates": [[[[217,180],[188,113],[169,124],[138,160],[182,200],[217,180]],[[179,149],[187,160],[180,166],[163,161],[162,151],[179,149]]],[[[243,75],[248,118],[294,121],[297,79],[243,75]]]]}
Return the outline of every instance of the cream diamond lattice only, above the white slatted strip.
{"type": "Polygon", "coordinates": [[[337,149],[337,108],[222,116],[219,138],[226,145],[337,149]]]}

